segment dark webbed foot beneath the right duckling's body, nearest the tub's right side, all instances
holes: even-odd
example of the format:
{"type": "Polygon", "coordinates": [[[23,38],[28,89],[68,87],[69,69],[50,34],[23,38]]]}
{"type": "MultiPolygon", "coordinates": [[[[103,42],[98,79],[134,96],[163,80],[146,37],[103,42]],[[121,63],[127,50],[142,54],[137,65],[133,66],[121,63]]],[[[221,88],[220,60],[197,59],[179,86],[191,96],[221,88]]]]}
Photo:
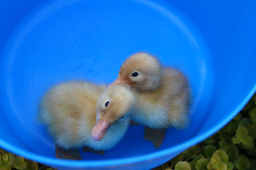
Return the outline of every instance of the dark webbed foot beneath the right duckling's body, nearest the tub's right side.
{"type": "Polygon", "coordinates": [[[145,126],[144,140],[150,140],[154,144],[155,148],[159,148],[165,136],[166,129],[151,129],[145,126]]]}

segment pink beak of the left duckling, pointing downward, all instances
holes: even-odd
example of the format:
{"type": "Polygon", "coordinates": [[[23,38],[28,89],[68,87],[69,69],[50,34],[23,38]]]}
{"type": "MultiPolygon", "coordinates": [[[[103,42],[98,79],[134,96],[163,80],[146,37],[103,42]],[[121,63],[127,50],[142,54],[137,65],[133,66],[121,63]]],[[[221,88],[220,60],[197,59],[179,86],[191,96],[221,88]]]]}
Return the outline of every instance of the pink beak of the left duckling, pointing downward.
{"type": "Polygon", "coordinates": [[[105,119],[99,120],[92,129],[92,140],[100,141],[101,139],[103,139],[110,125],[111,123],[108,123],[107,121],[105,121],[105,119]]]}

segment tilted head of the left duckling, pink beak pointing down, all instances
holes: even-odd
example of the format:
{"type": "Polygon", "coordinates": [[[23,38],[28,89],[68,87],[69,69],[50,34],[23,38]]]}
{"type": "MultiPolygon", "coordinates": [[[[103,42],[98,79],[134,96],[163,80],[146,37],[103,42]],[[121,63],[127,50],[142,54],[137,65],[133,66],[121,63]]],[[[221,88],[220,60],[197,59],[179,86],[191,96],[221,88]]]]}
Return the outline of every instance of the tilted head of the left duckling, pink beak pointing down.
{"type": "Polygon", "coordinates": [[[125,132],[129,126],[129,114],[134,100],[134,95],[125,86],[112,86],[103,92],[96,105],[97,123],[92,129],[92,140],[100,141],[109,128],[123,129],[125,132]]]}

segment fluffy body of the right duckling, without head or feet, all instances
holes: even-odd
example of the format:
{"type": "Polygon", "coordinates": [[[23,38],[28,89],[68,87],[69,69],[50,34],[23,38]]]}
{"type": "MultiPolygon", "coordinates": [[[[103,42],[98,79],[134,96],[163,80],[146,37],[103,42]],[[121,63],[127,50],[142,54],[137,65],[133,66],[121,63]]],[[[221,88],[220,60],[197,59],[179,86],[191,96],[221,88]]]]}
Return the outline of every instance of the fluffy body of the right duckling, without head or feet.
{"type": "Polygon", "coordinates": [[[152,129],[188,124],[188,84],[176,69],[164,68],[163,79],[156,90],[137,92],[138,102],[131,119],[152,129]]]}

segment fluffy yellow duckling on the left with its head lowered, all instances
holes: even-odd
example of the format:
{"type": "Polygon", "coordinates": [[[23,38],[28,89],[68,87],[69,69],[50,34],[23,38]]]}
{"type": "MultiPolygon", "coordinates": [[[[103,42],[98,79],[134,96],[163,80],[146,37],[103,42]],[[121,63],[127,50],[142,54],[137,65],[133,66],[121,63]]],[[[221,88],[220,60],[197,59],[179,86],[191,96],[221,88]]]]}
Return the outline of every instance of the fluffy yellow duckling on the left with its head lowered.
{"type": "MultiPolygon", "coordinates": [[[[70,81],[54,85],[42,97],[38,119],[48,127],[56,144],[56,157],[62,149],[87,146],[93,150],[114,147],[129,126],[133,93],[117,85],[70,81]]],[[[65,153],[70,159],[76,159],[65,153]]]]}

